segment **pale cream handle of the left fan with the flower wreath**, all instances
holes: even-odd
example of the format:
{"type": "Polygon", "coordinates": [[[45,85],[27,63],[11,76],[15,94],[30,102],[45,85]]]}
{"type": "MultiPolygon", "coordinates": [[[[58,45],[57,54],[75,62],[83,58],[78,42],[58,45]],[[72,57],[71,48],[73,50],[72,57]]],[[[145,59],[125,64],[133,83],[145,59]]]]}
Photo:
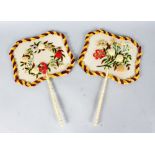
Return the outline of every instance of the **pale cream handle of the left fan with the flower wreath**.
{"type": "Polygon", "coordinates": [[[54,108],[55,115],[57,117],[57,120],[58,120],[60,126],[63,127],[64,126],[64,118],[63,118],[63,115],[62,115],[62,111],[61,111],[61,108],[60,108],[60,104],[59,104],[59,101],[58,101],[58,98],[57,98],[53,83],[50,80],[48,74],[46,74],[46,78],[47,78],[49,93],[50,93],[50,97],[51,97],[51,101],[52,101],[52,105],[53,105],[53,108],[54,108]]]}

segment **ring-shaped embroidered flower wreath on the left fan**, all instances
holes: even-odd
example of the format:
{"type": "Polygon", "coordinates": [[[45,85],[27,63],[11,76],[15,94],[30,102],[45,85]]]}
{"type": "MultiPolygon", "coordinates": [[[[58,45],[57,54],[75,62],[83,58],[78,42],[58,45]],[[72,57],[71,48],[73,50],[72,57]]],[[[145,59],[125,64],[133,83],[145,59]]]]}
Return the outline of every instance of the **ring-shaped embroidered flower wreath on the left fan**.
{"type": "Polygon", "coordinates": [[[63,65],[64,57],[64,51],[61,49],[61,47],[55,47],[52,42],[34,42],[32,45],[30,45],[30,48],[28,48],[23,54],[22,60],[20,61],[20,66],[30,75],[38,78],[40,75],[46,74],[48,71],[51,71],[51,68],[57,69],[59,66],[63,65]],[[35,64],[35,54],[46,52],[46,50],[51,52],[49,63],[41,62],[38,65],[35,64]]]}

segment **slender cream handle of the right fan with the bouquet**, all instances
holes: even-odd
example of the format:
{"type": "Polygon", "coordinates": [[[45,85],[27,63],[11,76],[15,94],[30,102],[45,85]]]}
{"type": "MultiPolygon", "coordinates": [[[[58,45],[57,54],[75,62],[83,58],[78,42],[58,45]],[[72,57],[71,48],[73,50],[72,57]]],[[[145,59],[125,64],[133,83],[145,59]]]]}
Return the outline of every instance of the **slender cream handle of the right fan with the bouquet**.
{"type": "Polygon", "coordinates": [[[107,81],[108,81],[108,74],[109,74],[109,71],[107,70],[105,79],[103,80],[103,83],[101,85],[101,90],[99,93],[98,104],[97,104],[97,109],[96,109],[95,118],[94,118],[94,126],[97,126],[100,120],[100,114],[102,110],[105,89],[106,89],[107,81]]]}

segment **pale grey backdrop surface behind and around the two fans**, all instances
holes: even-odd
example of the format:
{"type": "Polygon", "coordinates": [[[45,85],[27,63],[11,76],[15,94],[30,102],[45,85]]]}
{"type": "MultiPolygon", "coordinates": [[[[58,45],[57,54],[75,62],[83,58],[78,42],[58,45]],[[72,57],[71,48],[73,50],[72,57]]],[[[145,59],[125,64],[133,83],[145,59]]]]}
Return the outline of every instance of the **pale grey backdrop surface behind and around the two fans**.
{"type": "Polygon", "coordinates": [[[155,22],[0,22],[0,132],[155,132],[155,22]],[[104,28],[127,35],[142,46],[141,78],[130,85],[109,80],[99,127],[92,126],[101,77],[88,76],[78,64],[72,72],[54,79],[67,123],[55,120],[46,81],[34,88],[13,79],[9,58],[19,39],[49,30],[63,32],[76,58],[85,34],[104,28]]]}

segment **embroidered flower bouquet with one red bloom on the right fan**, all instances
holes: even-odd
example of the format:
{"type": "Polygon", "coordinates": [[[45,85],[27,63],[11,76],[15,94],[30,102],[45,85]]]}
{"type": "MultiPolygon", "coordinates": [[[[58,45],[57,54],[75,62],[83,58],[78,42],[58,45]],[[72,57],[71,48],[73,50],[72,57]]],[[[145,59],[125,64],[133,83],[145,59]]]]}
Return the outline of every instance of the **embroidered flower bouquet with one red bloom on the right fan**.
{"type": "Polygon", "coordinates": [[[113,68],[116,71],[124,72],[130,69],[130,61],[132,60],[129,54],[130,47],[127,43],[118,43],[114,40],[108,43],[105,40],[100,40],[97,43],[97,49],[93,53],[93,57],[98,61],[101,60],[101,65],[104,69],[113,68]]]}

